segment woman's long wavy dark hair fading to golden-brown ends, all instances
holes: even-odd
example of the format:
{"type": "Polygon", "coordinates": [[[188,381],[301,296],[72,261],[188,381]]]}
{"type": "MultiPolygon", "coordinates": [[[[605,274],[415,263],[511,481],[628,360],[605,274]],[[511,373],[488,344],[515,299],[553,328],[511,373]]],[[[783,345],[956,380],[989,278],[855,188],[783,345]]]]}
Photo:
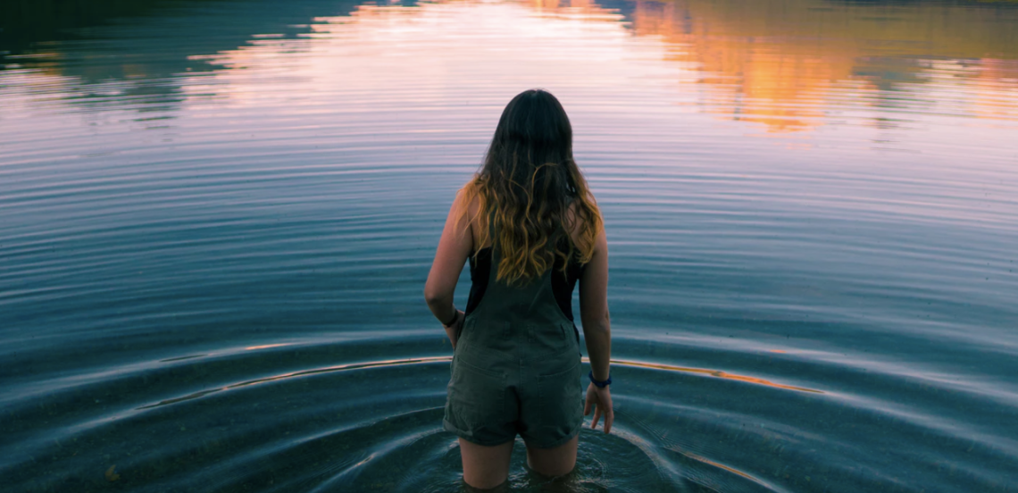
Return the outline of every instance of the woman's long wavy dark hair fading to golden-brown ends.
{"type": "Polygon", "coordinates": [[[573,160],[569,117],[543,90],[524,91],[506,105],[484,164],[461,194],[460,219],[476,201],[471,224],[479,228],[479,244],[498,249],[496,279],[508,284],[541,277],[556,258],[562,272],[574,256],[588,262],[603,227],[573,160]],[[577,229],[574,241],[569,232],[577,229]]]}

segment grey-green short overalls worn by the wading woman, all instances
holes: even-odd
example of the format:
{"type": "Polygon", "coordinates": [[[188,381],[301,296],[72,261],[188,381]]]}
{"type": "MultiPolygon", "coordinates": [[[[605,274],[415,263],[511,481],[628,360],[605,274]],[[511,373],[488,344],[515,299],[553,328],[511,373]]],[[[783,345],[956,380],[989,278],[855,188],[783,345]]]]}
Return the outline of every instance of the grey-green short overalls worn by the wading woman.
{"type": "Polygon", "coordinates": [[[466,316],[452,360],[445,429],[479,445],[516,438],[549,448],[583,424],[579,340],[555,302],[549,269],[522,286],[496,280],[466,316]]]}

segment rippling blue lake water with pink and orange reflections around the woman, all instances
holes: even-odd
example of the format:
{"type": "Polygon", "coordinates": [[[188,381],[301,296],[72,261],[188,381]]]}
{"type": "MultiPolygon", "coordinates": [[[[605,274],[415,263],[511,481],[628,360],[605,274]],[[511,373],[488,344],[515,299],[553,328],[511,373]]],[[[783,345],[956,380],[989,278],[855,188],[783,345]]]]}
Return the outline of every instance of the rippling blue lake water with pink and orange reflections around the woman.
{"type": "Polygon", "coordinates": [[[533,87],[605,215],[617,421],[565,484],[518,443],[514,491],[1018,491],[1018,4],[22,22],[0,45],[5,491],[459,488],[423,281],[533,87]]]}

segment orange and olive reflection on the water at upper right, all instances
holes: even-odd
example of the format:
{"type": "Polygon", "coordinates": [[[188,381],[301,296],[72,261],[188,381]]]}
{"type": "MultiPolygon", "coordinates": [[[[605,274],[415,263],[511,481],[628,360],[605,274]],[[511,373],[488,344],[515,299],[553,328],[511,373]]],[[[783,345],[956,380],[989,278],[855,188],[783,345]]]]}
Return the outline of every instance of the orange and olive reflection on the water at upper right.
{"type": "Polygon", "coordinates": [[[999,11],[814,0],[633,3],[637,36],[660,37],[671,45],[669,60],[702,71],[699,83],[712,87],[706,111],[770,131],[815,127],[860,102],[881,107],[881,94],[917,85],[970,93],[970,104],[956,108],[968,116],[1018,117],[1018,36],[999,11]],[[974,33],[973,24],[986,29],[974,33]]]}

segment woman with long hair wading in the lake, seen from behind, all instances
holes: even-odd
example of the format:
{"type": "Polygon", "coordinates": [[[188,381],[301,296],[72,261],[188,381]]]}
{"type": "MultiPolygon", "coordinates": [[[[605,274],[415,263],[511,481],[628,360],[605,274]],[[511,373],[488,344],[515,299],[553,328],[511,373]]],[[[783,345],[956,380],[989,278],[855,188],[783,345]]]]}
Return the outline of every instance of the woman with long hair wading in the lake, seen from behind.
{"type": "Polygon", "coordinates": [[[608,243],[573,161],[569,118],[550,93],[525,91],[506,106],[480,171],[456,195],[425,286],[453,346],[443,424],[459,436],[467,485],[506,482],[517,434],[531,470],[560,476],[576,464],[591,407],[591,428],[604,416],[611,430],[607,289],[608,243]],[[464,313],[453,291],[467,258],[464,313]],[[591,367],[582,406],[577,280],[591,367]]]}

